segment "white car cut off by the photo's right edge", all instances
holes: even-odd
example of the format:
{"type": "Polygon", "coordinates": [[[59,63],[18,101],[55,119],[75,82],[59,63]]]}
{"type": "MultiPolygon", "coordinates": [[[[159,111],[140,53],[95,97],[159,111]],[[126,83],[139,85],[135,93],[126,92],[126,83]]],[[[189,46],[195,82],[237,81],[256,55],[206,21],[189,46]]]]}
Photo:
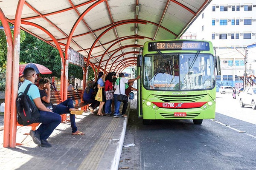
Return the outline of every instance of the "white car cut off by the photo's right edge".
{"type": "Polygon", "coordinates": [[[240,107],[244,105],[250,105],[253,109],[256,109],[256,87],[247,87],[239,94],[240,107]]]}

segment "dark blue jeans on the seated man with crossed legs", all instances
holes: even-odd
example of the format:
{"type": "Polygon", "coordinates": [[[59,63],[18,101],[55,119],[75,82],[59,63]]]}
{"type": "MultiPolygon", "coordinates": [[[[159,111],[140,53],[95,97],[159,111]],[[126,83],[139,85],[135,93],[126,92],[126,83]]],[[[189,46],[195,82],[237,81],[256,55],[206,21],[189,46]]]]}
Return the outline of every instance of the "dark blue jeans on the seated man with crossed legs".
{"type": "MultiPolygon", "coordinates": [[[[60,104],[55,105],[52,111],[54,113],[61,115],[61,114],[70,113],[70,110],[69,110],[70,108],[74,108],[73,101],[71,99],[67,99],[64,102],[61,102],[60,104]]],[[[72,128],[72,133],[75,133],[77,131],[75,116],[76,115],[74,114],[70,114],[70,124],[72,128]]]]}

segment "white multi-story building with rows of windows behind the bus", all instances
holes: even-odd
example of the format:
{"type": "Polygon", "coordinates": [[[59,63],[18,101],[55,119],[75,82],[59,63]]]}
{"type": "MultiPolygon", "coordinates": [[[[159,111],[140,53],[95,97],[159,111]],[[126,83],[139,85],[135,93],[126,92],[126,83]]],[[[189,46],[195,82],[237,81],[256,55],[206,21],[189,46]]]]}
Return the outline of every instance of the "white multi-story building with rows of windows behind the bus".
{"type": "MultiPolygon", "coordinates": [[[[247,46],[256,43],[256,0],[212,0],[181,38],[189,39],[191,32],[215,46],[221,59],[220,85],[241,87],[247,46]]],[[[248,58],[247,74],[256,74],[255,69],[256,62],[248,58]]]]}

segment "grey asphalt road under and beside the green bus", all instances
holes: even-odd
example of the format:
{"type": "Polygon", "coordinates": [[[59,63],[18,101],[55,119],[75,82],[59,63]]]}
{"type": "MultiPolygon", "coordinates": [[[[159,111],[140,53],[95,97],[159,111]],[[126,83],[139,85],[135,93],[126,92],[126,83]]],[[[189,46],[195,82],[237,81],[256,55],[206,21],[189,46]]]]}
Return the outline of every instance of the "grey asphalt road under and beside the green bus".
{"type": "MultiPolygon", "coordinates": [[[[216,117],[154,121],[143,125],[131,110],[119,169],[254,170],[256,110],[240,108],[239,96],[217,93],[216,117]]],[[[134,102],[134,101],[133,101],[134,102]]],[[[136,108],[136,107],[135,107],[136,108]]]]}

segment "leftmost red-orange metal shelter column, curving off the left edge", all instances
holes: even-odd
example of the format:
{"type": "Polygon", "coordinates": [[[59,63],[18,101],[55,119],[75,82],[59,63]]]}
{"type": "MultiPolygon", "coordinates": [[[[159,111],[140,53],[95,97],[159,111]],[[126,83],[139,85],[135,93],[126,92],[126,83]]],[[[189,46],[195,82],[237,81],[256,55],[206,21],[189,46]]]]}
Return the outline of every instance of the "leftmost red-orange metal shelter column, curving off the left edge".
{"type": "Polygon", "coordinates": [[[7,42],[7,65],[6,65],[6,91],[5,91],[5,108],[4,108],[4,130],[3,130],[3,147],[9,147],[10,139],[10,113],[11,113],[11,94],[12,94],[12,33],[9,24],[0,8],[0,20],[2,21],[7,42]]]}

